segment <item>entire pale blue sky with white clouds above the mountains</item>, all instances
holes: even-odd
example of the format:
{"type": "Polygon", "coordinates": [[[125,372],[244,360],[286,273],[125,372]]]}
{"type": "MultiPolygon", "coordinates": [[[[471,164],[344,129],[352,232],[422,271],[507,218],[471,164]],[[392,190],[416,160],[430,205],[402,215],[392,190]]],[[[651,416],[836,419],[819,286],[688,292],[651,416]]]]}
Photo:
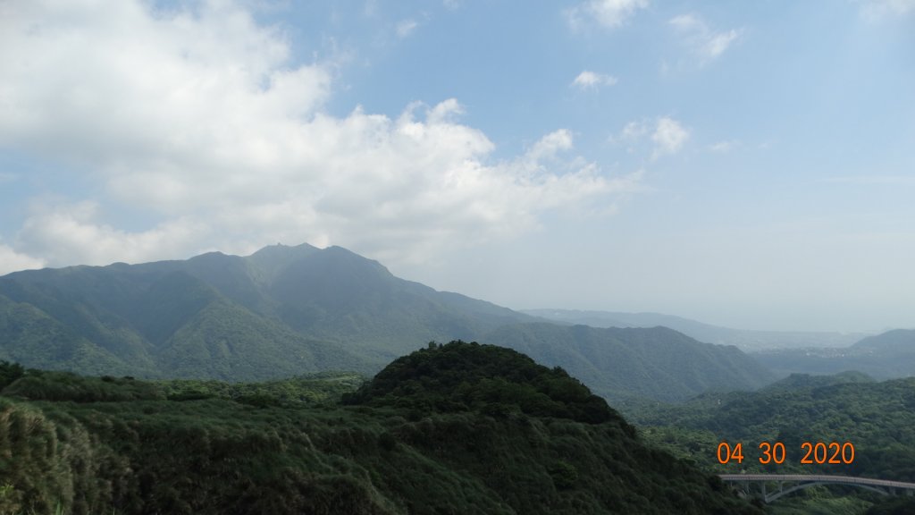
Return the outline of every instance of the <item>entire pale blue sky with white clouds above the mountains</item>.
{"type": "Polygon", "coordinates": [[[0,273],[277,242],[915,326],[915,0],[0,0],[0,273]]]}

